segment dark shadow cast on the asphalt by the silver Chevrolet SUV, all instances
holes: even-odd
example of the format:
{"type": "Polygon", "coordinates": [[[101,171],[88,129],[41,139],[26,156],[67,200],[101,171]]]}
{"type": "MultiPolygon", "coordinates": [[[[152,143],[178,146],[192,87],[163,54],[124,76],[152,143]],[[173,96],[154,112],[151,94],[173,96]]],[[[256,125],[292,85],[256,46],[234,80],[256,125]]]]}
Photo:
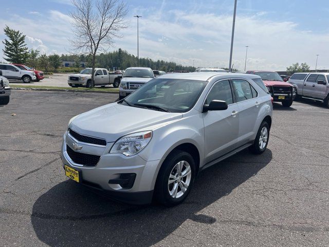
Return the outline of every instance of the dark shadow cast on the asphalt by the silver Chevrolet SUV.
{"type": "Polygon", "coordinates": [[[35,201],[31,222],[38,238],[50,246],[150,246],[186,220],[216,222],[198,212],[229,195],[271,160],[269,149],[262,155],[244,150],[200,172],[187,200],[172,208],[117,203],[67,180],[35,201]]]}

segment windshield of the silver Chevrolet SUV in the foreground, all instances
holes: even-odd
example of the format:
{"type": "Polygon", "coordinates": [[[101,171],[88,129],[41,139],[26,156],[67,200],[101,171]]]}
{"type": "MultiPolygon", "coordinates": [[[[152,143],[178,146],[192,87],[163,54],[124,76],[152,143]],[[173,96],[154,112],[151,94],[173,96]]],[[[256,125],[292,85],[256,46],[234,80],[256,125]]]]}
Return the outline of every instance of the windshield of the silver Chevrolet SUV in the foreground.
{"type": "Polygon", "coordinates": [[[127,96],[122,104],[167,112],[187,112],[194,107],[206,81],[153,79],[127,96]]]}

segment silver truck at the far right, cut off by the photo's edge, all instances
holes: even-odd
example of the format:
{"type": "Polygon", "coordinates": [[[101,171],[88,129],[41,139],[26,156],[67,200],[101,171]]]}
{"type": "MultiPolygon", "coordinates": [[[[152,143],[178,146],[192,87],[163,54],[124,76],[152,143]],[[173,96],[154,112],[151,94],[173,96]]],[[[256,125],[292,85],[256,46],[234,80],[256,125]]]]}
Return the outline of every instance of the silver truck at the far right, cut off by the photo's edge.
{"type": "Polygon", "coordinates": [[[288,82],[296,86],[297,97],[322,101],[329,108],[329,73],[295,73],[288,82]]]}

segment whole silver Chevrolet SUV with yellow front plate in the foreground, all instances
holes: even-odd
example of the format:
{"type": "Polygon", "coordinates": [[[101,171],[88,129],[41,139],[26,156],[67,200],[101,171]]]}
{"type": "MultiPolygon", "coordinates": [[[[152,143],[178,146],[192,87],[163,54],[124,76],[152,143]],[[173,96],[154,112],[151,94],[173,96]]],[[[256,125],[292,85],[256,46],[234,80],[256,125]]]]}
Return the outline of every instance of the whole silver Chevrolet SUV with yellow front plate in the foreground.
{"type": "Polygon", "coordinates": [[[256,75],[159,76],[69,121],[61,152],[65,174],[117,200],[176,205],[199,171],[247,147],[265,151],[272,102],[264,87],[256,75]]]}

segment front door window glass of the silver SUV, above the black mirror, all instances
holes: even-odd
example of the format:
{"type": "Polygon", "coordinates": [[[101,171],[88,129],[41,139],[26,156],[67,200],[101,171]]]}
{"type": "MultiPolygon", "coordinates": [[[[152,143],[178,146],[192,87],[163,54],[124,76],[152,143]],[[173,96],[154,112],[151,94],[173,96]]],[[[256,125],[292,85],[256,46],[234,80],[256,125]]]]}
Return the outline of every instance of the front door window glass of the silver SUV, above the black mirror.
{"type": "Polygon", "coordinates": [[[233,103],[232,89],[228,80],[218,81],[211,88],[205,103],[209,104],[212,100],[224,100],[227,104],[233,103]]]}

